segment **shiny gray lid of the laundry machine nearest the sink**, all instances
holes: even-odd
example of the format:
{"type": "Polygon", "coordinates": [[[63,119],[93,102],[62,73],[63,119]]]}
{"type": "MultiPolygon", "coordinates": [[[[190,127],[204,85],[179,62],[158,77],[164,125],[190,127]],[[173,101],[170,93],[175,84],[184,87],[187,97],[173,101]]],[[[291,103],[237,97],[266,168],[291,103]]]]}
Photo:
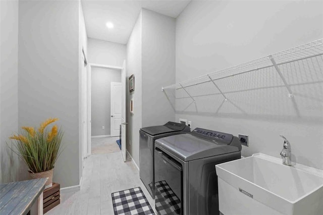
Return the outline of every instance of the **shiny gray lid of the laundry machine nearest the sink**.
{"type": "Polygon", "coordinates": [[[178,134],[155,140],[155,146],[161,146],[178,158],[186,161],[239,151],[230,143],[206,140],[191,134],[178,134]]]}

